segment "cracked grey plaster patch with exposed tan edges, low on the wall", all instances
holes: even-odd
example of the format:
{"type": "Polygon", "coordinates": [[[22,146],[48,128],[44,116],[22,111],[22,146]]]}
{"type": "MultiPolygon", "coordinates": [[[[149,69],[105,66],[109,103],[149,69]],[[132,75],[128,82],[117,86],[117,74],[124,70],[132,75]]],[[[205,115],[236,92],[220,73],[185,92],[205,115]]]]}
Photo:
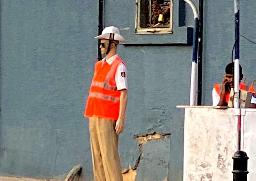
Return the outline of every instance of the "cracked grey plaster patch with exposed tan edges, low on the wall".
{"type": "Polygon", "coordinates": [[[159,178],[163,181],[167,181],[170,159],[170,140],[166,138],[170,138],[170,135],[171,133],[156,132],[146,135],[134,135],[134,139],[138,142],[138,159],[134,167],[130,167],[123,172],[124,181],[153,181],[159,178]],[[148,141],[152,142],[148,143],[148,141]],[[143,145],[144,148],[142,149],[143,145]],[[155,171],[152,171],[152,167],[155,168],[155,171]]]}

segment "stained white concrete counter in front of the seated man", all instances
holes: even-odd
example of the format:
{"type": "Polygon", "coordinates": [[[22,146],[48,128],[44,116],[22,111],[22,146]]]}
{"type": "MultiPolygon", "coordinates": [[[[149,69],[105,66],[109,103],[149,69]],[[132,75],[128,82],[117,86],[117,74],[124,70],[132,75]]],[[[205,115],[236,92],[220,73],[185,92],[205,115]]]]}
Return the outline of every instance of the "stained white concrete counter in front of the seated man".
{"type": "MultiPolygon", "coordinates": [[[[209,107],[185,108],[184,181],[232,180],[233,159],[237,150],[238,109],[209,107]]],[[[242,109],[242,142],[248,157],[248,181],[256,170],[256,109],[242,109]],[[250,173],[252,172],[252,173],[250,173]]]]}

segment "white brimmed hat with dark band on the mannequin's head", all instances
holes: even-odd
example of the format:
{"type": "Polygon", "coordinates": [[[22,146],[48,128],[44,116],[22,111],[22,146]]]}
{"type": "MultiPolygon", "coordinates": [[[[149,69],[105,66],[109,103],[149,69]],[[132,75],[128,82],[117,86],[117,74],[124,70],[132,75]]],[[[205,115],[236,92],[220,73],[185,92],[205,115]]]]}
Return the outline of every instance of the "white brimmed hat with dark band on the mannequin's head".
{"type": "Polygon", "coordinates": [[[94,38],[125,42],[124,37],[120,35],[118,28],[114,26],[108,26],[104,28],[102,34],[100,36],[95,36],[94,38]]]}

